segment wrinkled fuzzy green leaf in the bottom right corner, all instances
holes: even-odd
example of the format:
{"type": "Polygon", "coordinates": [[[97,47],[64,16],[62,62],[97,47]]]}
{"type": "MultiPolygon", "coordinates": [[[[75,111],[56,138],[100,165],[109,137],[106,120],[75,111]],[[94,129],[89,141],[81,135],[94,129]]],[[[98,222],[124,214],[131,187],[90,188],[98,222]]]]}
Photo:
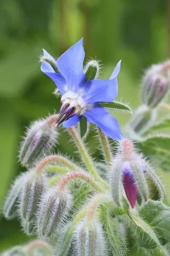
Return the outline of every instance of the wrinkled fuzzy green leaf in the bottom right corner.
{"type": "Polygon", "coordinates": [[[149,200],[140,210],[140,215],[154,230],[163,244],[170,241],[170,207],[161,201],[149,200]]]}

